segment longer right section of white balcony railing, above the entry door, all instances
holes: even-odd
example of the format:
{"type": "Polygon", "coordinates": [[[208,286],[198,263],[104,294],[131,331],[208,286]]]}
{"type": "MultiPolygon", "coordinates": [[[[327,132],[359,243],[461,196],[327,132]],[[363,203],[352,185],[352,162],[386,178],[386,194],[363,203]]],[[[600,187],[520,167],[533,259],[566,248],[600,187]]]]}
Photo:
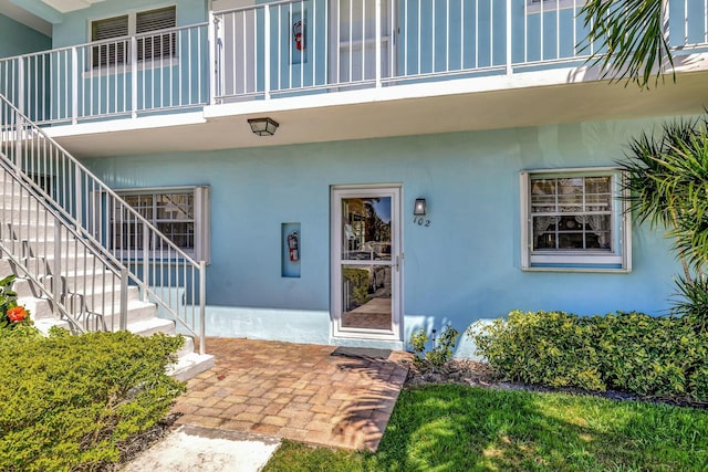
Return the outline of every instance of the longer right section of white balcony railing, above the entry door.
{"type": "MultiPolygon", "coordinates": [[[[675,49],[708,43],[708,3],[670,0],[675,49]]],[[[218,102],[514,74],[596,51],[583,0],[289,0],[215,13],[218,102]],[[304,20],[303,20],[304,19],[304,20]],[[298,29],[298,22],[303,27],[298,29]],[[296,31],[305,38],[298,48],[296,31]]]]}

